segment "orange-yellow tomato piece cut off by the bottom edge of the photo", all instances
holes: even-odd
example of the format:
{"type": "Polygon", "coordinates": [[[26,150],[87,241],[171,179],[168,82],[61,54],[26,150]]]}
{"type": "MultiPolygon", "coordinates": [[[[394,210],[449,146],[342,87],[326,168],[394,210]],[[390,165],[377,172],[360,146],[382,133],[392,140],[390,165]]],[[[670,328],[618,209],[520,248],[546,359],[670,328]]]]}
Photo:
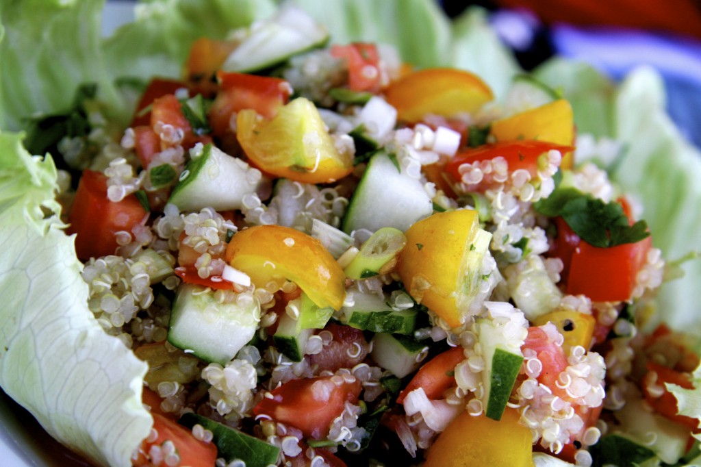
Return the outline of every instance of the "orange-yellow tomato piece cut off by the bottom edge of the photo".
{"type": "Polygon", "coordinates": [[[499,421],[463,412],[438,435],[423,465],[531,467],[531,430],[520,425],[519,418],[519,412],[512,408],[507,408],[499,421]]]}

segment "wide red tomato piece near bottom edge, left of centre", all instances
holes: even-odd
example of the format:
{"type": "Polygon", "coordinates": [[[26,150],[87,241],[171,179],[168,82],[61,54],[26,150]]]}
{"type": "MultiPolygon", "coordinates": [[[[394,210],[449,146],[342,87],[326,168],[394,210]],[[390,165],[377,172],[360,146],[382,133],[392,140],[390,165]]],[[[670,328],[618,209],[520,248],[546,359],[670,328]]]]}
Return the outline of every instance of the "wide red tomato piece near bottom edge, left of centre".
{"type": "Polygon", "coordinates": [[[355,404],[362,385],[358,379],[340,376],[292,379],[275,388],[272,398],[263,398],[253,408],[256,416],[298,428],[305,436],[322,439],[329,426],[343,413],[346,401],[355,404]],[[341,381],[336,381],[341,379],[341,381]]]}

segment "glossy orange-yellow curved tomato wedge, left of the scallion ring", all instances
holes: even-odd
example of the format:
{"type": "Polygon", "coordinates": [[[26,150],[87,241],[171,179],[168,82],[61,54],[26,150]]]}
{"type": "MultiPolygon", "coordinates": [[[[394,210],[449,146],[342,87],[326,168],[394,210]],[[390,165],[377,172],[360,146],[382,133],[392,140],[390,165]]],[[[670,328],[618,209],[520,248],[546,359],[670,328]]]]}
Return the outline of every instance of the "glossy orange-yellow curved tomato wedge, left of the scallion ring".
{"type": "Polygon", "coordinates": [[[346,275],[331,253],[304,232],[278,225],[253,226],[231,238],[226,262],[250,276],[257,287],[296,283],[320,307],[341,309],[346,275]]]}

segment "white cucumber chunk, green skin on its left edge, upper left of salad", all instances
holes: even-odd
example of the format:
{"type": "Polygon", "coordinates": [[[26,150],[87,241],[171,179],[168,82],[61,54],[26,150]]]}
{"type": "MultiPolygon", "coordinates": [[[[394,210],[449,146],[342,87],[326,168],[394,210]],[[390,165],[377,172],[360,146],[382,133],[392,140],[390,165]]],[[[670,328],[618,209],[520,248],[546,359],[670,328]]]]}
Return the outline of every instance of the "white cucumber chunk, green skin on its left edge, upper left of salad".
{"type": "Polygon", "coordinates": [[[257,191],[261,173],[241,159],[212,144],[207,144],[199,155],[195,149],[190,154],[192,158],[168,199],[179,210],[194,211],[207,206],[217,211],[238,210],[243,208],[243,197],[257,191]]]}

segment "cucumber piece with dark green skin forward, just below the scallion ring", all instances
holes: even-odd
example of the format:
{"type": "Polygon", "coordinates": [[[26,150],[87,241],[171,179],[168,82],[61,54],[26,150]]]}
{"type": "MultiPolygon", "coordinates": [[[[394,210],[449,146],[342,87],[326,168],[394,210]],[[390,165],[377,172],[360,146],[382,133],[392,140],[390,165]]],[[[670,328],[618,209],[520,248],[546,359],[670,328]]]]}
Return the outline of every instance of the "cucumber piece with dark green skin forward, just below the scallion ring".
{"type": "Polygon", "coordinates": [[[387,297],[353,292],[353,305],[341,309],[341,323],[361,330],[411,334],[416,327],[416,308],[393,310],[387,297]]]}

